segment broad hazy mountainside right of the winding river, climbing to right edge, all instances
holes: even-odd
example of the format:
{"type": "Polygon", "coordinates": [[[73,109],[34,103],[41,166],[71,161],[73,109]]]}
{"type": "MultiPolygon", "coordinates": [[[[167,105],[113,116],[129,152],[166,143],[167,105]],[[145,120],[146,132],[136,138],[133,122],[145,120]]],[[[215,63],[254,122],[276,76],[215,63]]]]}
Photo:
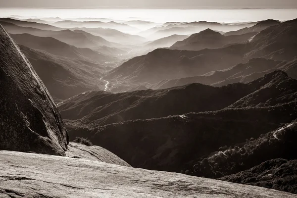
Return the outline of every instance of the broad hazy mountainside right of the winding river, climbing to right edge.
{"type": "MultiPolygon", "coordinates": [[[[199,51],[156,49],[147,55],[128,60],[110,71],[107,78],[153,84],[164,79],[193,77],[214,70],[226,69],[251,58],[263,57],[292,61],[296,59],[295,51],[297,50],[296,21],[271,26],[245,44],[231,45],[221,49],[199,51]]],[[[207,32],[224,37],[210,30],[207,32]]],[[[210,39],[209,43],[212,44],[212,41],[210,39]]]]}

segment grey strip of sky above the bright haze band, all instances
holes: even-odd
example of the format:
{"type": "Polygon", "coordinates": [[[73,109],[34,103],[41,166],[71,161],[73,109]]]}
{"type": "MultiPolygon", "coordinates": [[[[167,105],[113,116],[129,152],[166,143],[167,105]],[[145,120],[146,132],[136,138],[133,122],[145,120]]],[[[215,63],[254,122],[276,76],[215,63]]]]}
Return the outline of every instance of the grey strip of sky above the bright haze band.
{"type": "Polygon", "coordinates": [[[297,0],[0,0],[0,7],[279,7],[297,8],[297,0]]]}

